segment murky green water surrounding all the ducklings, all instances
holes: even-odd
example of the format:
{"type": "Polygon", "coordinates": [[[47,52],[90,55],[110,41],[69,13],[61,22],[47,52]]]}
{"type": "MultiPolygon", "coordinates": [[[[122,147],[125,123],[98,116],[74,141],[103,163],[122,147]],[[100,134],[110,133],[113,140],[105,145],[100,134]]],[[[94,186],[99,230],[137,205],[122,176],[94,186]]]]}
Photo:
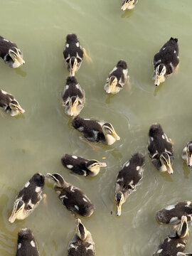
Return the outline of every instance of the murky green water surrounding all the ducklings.
{"type": "MultiPolygon", "coordinates": [[[[159,225],[156,210],[191,200],[191,169],[181,153],[191,140],[191,0],[139,0],[133,11],[122,12],[121,1],[1,0],[1,35],[18,44],[26,65],[13,70],[0,62],[1,89],[11,92],[26,110],[19,117],[1,117],[0,255],[15,255],[17,232],[31,228],[41,256],[67,255],[75,220],[46,182],[47,204],[14,224],[8,222],[14,198],[24,183],[40,171],[59,173],[82,188],[95,203],[95,213],[82,218],[95,240],[97,255],[152,255],[171,231],[159,225]],[[95,151],[81,142],[61,106],[68,71],[63,46],[68,33],[77,33],[93,63],[82,63],[76,75],[86,93],[81,117],[111,122],[119,142],[95,151]],[[151,80],[154,54],[171,36],[178,38],[180,67],[163,85],[151,80]],[[117,61],[127,60],[131,88],[109,97],[103,90],[117,61]],[[149,126],[161,123],[174,142],[174,174],[159,174],[149,161],[149,126]],[[114,183],[131,155],[146,155],[144,177],[114,215],[114,183]],[[64,154],[103,161],[95,178],[74,176],[60,164],[64,154]],[[110,212],[113,212],[111,215],[110,212]]],[[[190,230],[191,231],[191,230],[190,230]]],[[[186,251],[192,251],[191,238],[186,251]]]]}

